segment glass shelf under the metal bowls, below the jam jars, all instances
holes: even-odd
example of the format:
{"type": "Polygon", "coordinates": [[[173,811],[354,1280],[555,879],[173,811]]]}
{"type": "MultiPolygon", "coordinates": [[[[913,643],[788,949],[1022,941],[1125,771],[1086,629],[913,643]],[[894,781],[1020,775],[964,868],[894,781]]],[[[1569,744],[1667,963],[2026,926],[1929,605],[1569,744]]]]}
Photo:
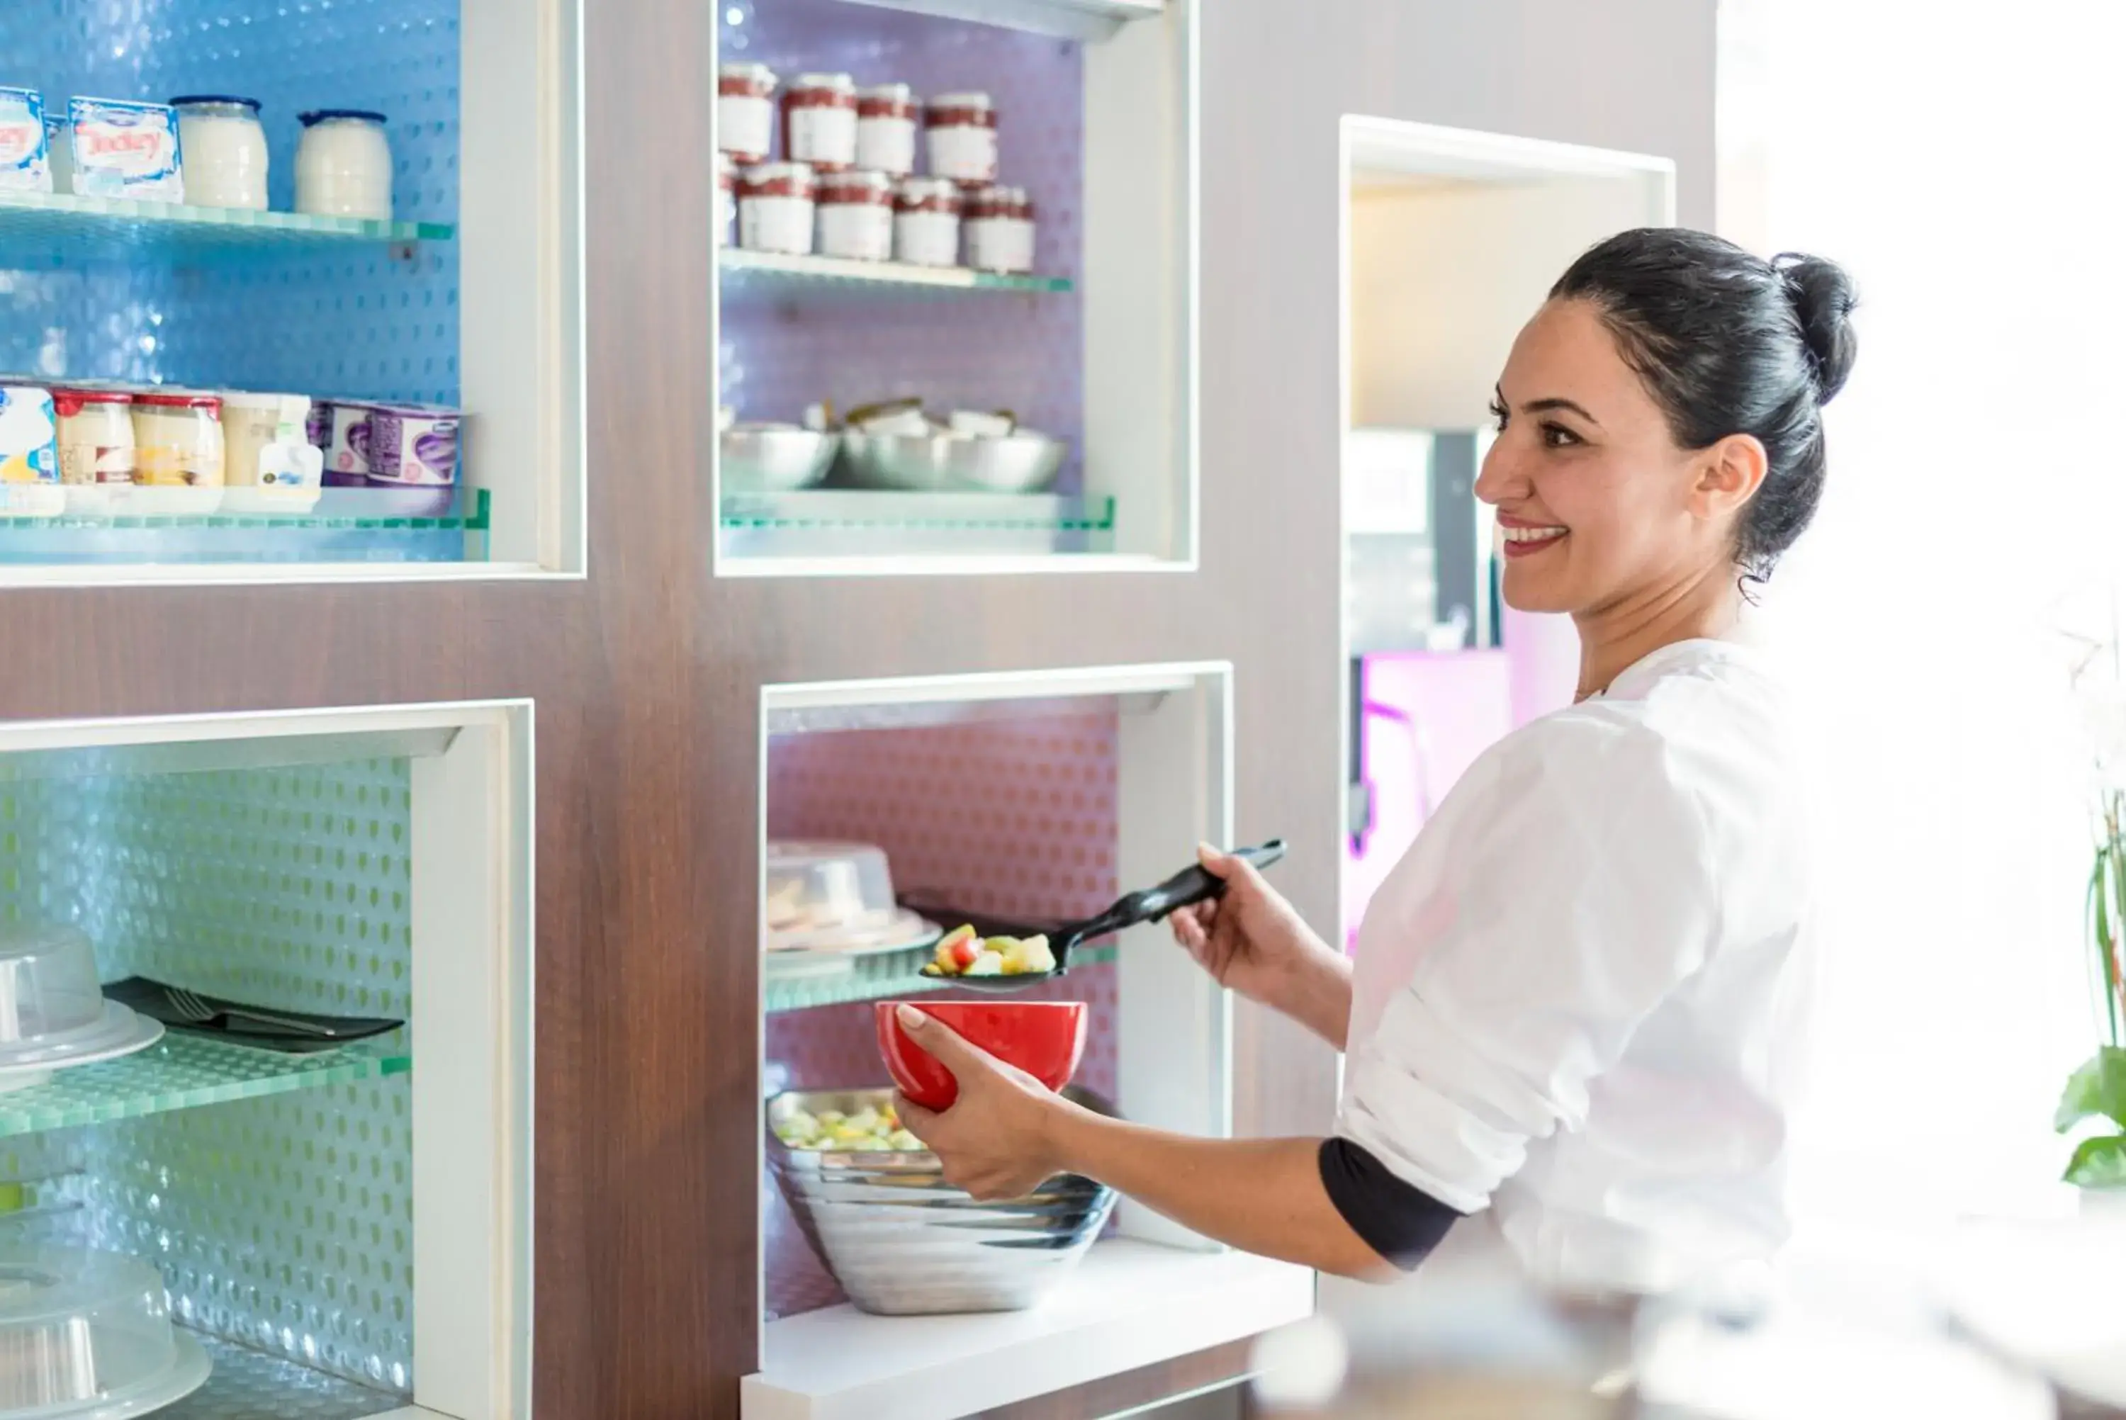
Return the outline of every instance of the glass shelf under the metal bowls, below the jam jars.
{"type": "Polygon", "coordinates": [[[727,557],[1106,553],[1114,500],[1067,493],[729,493],[727,557]]]}

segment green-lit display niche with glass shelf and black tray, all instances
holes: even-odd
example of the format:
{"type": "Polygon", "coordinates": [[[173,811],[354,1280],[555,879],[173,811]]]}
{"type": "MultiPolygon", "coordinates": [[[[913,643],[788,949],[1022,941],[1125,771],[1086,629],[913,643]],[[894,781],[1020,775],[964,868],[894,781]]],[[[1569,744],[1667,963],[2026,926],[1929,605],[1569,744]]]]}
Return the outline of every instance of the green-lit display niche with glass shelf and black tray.
{"type": "Polygon", "coordinates": [[[0,725],[0,1416],[529,1414],[527,746],[0,725]]]}

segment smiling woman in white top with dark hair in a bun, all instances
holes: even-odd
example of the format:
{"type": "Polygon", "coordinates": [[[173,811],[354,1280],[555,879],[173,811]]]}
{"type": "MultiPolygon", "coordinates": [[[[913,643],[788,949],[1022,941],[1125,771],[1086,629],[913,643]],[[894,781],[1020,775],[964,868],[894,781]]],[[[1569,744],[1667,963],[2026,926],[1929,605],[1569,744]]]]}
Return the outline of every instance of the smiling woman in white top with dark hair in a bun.
{"type": "Polygon", "coordinates": [[[901,1118],[978,1197],[1074,1171],[1250,1252],[1378,1278],[1490,1210],[1539,1282],[1648,1292],[1773,1252],[1807,963],[1779,697],[1731,638],[1824,487],[1845,274],[1699,232],[1601,242],[1499,378],[1503,595],[1580,693],[1490,748],[1376,895],[1356,967],[1263,878],[1174,931],[1348,1052],[1329,1139],[1078,1110],[906,1012],[959,1101],[901,1118]]]}

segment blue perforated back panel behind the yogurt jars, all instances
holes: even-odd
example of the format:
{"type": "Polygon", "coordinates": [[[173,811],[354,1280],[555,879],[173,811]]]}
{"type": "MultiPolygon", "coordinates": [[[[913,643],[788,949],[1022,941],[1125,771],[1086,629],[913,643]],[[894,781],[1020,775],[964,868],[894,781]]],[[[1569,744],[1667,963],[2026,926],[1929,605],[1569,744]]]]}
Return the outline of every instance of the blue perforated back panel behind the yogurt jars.
{"type": "MultiPolygon", "coordinates": [[[[296,115],[389,119],[404,219],[457,221],[457,0],[6,0],[0,85],[264,104],[272,206],[296,115]]],[[[457,404],[457,247],[0,272],[0,372],[457,404]]]]}

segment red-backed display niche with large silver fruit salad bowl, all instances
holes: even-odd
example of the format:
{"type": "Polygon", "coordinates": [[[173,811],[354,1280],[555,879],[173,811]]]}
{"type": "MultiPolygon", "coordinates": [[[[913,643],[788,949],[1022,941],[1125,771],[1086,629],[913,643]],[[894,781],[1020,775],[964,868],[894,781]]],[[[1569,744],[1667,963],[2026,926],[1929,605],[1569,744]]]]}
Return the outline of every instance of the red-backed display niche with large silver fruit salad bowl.
{"type": "Polygon", "coordinates": [[[1231,1133],[1229,1001],[1123,899],[1231,831],[1231,672],[763,693],[761,1343],[748,1420],[961,1416],[1256,1335],[1312,1273],[1091,1180],[976,1203],[891,1112],[914,1001],[1095,1110],[1231,1133]],[[1116,910],[1120,908],[1120,910],[1116,910]]]}

